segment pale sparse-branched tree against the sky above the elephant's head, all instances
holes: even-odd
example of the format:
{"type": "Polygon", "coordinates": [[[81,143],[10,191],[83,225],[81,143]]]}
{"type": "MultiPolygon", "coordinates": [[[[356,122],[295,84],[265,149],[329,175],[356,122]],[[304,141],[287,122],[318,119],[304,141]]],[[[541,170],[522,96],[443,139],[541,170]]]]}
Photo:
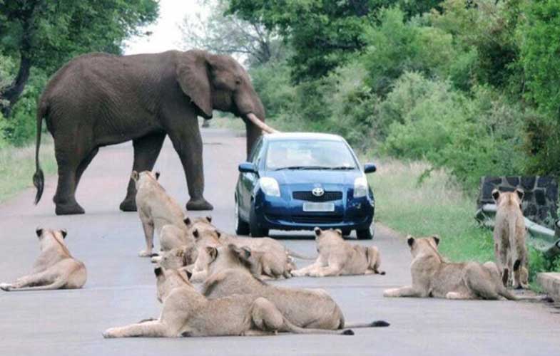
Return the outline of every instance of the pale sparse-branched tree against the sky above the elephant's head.
{"type": "Polygon", "coordinates": [[[185,48],[237,55],[249,64],[264,64],[282,56],[282,41],[274,29],[225,14],[230,6],[228,0],[198,1],[210,13],[185,15],[180,25],[185,48]]]}

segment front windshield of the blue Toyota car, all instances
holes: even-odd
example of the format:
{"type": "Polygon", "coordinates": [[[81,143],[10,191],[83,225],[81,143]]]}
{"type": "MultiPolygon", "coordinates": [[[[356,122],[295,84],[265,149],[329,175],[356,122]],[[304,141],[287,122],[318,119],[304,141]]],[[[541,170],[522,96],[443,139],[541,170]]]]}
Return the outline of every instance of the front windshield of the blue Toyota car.
{"type": "Polygon", "coordinates": [[[342,141],[282,140],[268,144],[267,169],[355,169],[350,149],[342,141]]]}

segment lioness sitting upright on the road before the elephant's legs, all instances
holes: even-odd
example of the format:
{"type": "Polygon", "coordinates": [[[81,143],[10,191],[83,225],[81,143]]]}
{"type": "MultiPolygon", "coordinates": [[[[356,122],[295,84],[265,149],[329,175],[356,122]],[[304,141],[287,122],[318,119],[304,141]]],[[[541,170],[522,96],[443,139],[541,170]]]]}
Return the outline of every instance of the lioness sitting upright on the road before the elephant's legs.
{"type": "Polygon", "coordinates": [[[138,174],[133,171],[131,178],[136,183],[136,207],[146,237],[146,249],[140,251],[138,256],[154,256],[152,251],[154,230],[160,238],[161,229],[168,224],[180,230],[187,230],[183,221],[183,209],[158,183],[159,173],[143,171],[138,174]]]}

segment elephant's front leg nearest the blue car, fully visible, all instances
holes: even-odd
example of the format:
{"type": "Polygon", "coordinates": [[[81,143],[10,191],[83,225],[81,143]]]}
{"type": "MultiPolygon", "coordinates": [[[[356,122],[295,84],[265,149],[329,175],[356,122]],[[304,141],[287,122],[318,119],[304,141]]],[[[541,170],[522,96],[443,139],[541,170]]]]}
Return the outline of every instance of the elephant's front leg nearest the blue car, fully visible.
{"type": "MultiPolygon", "coordinates": [[[[185,129],[183,129],[185,130],[185,129]]],[[[190,200],[187,203],[187,210],[212,210],[214,207],[203,197],[204,192],[204,170],[202,150],[203,143],[200,137],[198,125],[188,127],[188,132],[182,135],[170,132],[173,147],[177,151],[185,177],[187,179],[188,194],[190,200]]]]}

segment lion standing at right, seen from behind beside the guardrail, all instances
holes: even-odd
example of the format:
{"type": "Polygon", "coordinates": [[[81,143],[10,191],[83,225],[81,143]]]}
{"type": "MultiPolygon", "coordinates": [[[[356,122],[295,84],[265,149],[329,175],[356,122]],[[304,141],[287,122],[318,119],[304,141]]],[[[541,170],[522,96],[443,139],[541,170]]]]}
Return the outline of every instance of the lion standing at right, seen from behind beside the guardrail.
{"type": "Polygon", "coordinates": [[[524,192],[492,191],[496,201],[496,224],[494,224],[494,253],[502,274],[504,286],[529,288],[527,247],[525,244],[525,219],[521,211],[524,192]]]}

